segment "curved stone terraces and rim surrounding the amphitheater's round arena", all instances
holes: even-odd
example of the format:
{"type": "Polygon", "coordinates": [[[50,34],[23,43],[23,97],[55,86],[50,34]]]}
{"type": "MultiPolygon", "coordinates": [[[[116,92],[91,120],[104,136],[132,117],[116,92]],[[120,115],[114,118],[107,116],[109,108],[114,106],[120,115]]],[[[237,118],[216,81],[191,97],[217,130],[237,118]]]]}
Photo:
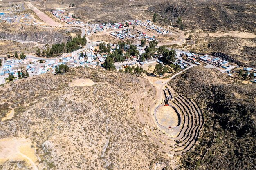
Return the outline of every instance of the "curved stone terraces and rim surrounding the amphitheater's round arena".
{"type": "Polygon", "coordinates": [[[197,104],[191,99],[180,94],[176,94],[175,97],[172,96],[171,92],[170,95],[165,93],[165,104],[158,105],[154,114],[159,129],[168,134],[170,140],[175,141],[171,150],[180,155],[189,151],[195,145],[203,125],[203,116],[197,104]],[[161,120],[159,120],[157,112],[161,107],[171,107],[175,110],[174,113],[170,112],[169,114],[177,114],[177,126],[172,126],[172,124],[169,126],[165,124],[164,126],[160,123],[161,120]]]}

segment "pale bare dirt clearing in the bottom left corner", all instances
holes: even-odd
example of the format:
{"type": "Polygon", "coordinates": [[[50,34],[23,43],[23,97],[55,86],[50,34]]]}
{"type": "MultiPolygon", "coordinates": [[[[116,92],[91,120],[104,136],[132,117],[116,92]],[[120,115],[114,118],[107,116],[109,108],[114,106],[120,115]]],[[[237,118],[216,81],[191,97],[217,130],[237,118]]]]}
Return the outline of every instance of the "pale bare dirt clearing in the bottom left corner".
{"type": "Polygon", "coordinates": [[[0,140],[0,163],[12,160],[12,161],[26,161],[29,166],[32,166],[34,170],[36,168],[36,154],[34,146],[31,141],[27,139],[5,138],[0,140]]]}

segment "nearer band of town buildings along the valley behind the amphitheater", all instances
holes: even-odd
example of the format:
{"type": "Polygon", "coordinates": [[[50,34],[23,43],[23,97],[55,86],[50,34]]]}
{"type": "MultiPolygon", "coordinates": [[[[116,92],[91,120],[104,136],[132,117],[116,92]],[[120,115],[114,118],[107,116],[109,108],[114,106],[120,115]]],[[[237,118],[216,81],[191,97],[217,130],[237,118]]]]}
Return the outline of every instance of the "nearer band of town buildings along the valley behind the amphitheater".
{"type": "MultiPolygon", "coordinates": [[[[6,83],[6,81],[8,81],[9,75],[13,75],[14,78],[18,80],[19,77],[22,77],[22,74],[20,75],[20,72],[22,70],[25,70],[27,72],[27,76],[34,76],[47,72],[56,74],[55,68],[61,64],[67,65],[70,68],[78,66],[91,68],[103,67],[106,57],[108,57],[108,53],[101,53],[101,50],[99,49],[99,43],[93,43],[94,45],[89,46],[83,51],[78,50],[79,52],[74,51],[72,53],[63,54],[61,57],[58,57],[56,59],[44,59],[36,56],[30,57],[30,55],[25,57],[24,59],[11,59],[8,57],[4,57],[4,62],[2,62],[2,66],[0,69],[0,83],[6,83]]],[[[107,48],[107,45],[105,43],[101,42],[100,44],[107,48]]],[[[109,46],[109,54],[111,54],[118,48],[119,45],[109,44],[109,46]]],[[[127,68],[128,66],[141,66],[142,68],[148,70],[148,66],[152,67],[156,64],[164,64],[164,62],[161,61],[161,58],[157,57],[153,57],[148,60],[141,60],[141,56],[145,54],[146,47],[143,47],[141,45],[136,45],[135,47],[136,51],[138,51],[137,56],[130,55],[126,60],[114,63],[115,69],[117,71],[124,71],[125,68],[127,68]]],[[[126,45],[126,48],[129,48],[129,46],[126,45]]],[[[180,50],[175,50],[175,52],[176,59],[173,64],[178,66],[181,70],[184,70],[191,66],[202,65],[205,68],[218,69],[222,73],[228,74],[230,77],[251,77],[251,82],[256,83],[256,73],[254,73],[256,71],[256,68],[243,68],[241,66],[238,66],[237,64],[230,63],[228,61],[220,59],[219,57],[213,57],[210,55],[200,56],[198,54],[180,50]]],[[[148,75],[154,75],[154,73],[148,73],[148,75]]],[[[27,76],[25,76],[25,78],[27,76]]],[[[162,74],[161,77],[163,77],[162,74]]]]}

